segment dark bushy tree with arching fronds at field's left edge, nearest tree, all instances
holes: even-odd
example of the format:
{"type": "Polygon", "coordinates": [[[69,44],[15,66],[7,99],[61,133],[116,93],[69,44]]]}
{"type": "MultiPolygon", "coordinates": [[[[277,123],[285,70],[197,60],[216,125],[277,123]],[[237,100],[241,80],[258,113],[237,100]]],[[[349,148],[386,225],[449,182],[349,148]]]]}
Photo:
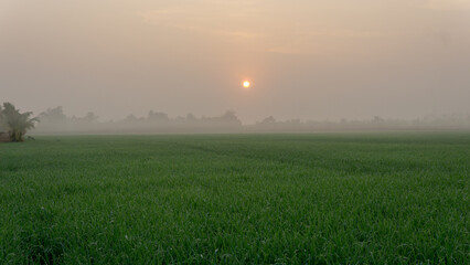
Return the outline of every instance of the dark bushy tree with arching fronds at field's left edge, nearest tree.
{"type": "Polygon", "coordinates": [[[31,118],[33,113],[20,113],[11,103],[3,103],[3,109],[0,109],[0,123],[9,131],[12,141],[23,141],[28,130],[34,128],[34,123],[39,118],[31,118]]]}

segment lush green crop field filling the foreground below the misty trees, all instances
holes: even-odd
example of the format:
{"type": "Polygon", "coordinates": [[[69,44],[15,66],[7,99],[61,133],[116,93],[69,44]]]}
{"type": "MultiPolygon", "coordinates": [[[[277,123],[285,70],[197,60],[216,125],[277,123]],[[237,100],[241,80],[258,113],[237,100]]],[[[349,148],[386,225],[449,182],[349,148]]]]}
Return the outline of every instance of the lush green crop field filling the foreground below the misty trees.
{"type": "Polygon", "coordinates": [[[467,264],[470,134],[38,137],[4,264],[467,264]]]}

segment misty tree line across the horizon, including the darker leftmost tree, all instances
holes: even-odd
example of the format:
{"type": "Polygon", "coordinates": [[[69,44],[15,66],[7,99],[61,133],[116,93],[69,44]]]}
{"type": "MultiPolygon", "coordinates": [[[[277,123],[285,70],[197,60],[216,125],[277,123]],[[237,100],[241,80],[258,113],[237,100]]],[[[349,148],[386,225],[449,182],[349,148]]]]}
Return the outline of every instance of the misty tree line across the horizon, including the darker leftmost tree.
{"type": "Polygon", "coordinates": [[[28,130],[35,134],[172,134],[172,132],[312,132],[371,130],[469,130],[470,114],[429,115],[413,120],[385,119],[374,116],[364,120],[278,120],[273,116],[252,125],[242,125],[232,110],[220,116],[170,117],[150,110],[137,117],[128,115],[119,120],[100,121],[94,113],[67,116],[63,107],[49,108],[38,117],[21,113],[11,103],[0,106],[0,141],[23,141],[28,130]]]}

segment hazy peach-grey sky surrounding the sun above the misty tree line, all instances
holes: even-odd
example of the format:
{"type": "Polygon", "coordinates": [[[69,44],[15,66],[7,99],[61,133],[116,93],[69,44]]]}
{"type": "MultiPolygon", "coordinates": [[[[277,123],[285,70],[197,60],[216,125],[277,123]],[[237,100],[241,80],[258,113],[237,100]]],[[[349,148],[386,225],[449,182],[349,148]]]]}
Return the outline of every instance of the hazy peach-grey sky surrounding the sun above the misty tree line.
{"type": "Polygon", "coordinates": [[[470,0],[0,0],[6,100],[102,119],[470,113],[470,0]]]}

